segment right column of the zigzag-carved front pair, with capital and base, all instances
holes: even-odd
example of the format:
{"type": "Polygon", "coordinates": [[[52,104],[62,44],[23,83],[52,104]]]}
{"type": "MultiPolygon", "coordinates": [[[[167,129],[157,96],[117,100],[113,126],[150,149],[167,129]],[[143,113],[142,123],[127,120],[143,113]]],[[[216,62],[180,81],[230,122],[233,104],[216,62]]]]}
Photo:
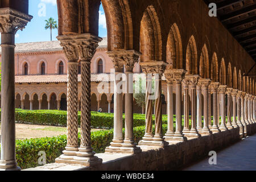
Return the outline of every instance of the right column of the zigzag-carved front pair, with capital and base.
{"type": "Polygon", "coordinates": [[[92,142],[90,138],[90,61],[92,60],[92,57],[96,52],[98,42],[100,42],[101,40],[101,38],[99,38],[98,36],[94,36],[92,34],[82,34],[75,38],[76,50],[81,60],[81,143],[80,147],[78,148],[78,151],[76,152],[76,157],[74,159],[76,160],[77,164],[82,164],[86,166],[94,166],[96,164],[102,163],[102,159],[98,159],[97,156],[94,156],[95,152],[93,151],[92,142]]]}

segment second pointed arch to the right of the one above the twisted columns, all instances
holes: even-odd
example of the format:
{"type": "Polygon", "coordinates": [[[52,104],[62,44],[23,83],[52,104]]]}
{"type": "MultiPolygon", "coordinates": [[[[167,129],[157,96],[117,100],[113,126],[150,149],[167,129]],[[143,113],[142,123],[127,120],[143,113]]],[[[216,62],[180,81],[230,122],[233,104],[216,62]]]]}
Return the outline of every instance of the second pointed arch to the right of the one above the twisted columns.
{"type": "Polygon", "coordinates": [[[186,53],[186,70],[187,74],[197,75],[197,48],[196,48],[196,40],[192,35],[189,38],[187,53],[186,53]]]}

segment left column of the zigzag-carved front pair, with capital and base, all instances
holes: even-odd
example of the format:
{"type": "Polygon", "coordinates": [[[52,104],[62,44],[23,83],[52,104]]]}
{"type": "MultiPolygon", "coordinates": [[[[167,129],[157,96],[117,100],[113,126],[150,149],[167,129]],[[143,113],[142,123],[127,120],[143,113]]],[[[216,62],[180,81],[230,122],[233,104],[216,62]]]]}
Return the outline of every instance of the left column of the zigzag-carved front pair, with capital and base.
{"type": "Polygon", "coordinates": [[[60,41],[60,45],[63,47],[64,53],[68,59],[67,146],[63,151],[63,155],[55,160],[58,163],[72,163],[76,158],[76,152],[79,150],[77,117],[77,61],[79,60],[79,54],[76,49],[76,38],[77,35],[57,36],[57,39],[60,41]]]}

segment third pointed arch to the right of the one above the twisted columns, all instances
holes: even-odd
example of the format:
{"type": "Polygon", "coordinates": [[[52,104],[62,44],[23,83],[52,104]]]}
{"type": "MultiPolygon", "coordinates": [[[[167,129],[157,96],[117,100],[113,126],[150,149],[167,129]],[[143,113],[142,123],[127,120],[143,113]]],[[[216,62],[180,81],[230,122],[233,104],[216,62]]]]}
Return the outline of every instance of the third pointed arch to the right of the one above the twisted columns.
{"type": "Polygon", "coordinates": [[[210,78],[210,73],[209,73],[209,55],[208,55],[208,49],[206,44],[204,44],[200,56],[200,65],[199,65],[199,75],[202,78],[210,78]]]}

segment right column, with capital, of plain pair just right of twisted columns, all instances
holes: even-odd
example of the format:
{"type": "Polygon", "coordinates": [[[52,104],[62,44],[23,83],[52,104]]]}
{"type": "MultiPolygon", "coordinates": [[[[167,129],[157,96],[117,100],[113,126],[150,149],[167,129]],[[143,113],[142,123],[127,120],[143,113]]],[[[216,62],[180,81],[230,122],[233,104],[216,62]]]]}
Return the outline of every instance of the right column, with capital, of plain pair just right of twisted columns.
{"type": "Polygon", "coordinates": [[[187,137],[184,137],[182,133],[182,120],[181,120],[181,81],[185,77],[186,71],[184,69],[168,69],[164,73],[166,79],[173,82],[176,86],[176,131],[174,137],[170,140],[185,141],[187,137]]]}

